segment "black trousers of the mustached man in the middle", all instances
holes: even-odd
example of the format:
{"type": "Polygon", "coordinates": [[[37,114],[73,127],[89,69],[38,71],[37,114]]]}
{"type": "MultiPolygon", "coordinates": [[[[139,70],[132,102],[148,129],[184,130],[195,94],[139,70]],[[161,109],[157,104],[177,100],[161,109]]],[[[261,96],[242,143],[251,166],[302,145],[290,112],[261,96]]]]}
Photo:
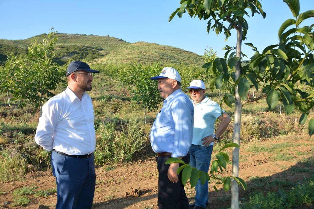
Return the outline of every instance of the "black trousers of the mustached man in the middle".
{"type": "MultiPolygon", "coordinates": [[[[172,183],[168,179],[169,164],[165,165],[166,160],[171,156],[160,156],[156,158],[158,169],[158,208],[159,209],[185,209],[189,208],[189,201],[185,194],[184,186],[181,180],[181,173],[178,175],[179,181],[172,183]]],[[[190,155],[182,158],[183,162],[190,162],[190,155]]],[[[181,166],[182,164],[180,164],[181,166]]]]}

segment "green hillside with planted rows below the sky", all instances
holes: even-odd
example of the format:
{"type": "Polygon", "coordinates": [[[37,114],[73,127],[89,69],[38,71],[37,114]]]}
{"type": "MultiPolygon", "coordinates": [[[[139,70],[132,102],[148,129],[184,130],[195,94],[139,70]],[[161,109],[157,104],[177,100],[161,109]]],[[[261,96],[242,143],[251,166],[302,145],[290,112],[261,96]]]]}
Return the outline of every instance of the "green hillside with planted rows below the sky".
{"type": "MultiPolygon", "coordinates": [[[[43,34],[45,35],[45,34],[43,34]]],[[[0,39],[0,65],[10,53],[26,54],[27,45],[34,38],[42,39],[37,35],[24,40],[0,39]]],[[[203,64],[202,56],[172,46],[163,46],[155,43],[136,42],[129,43],[122,39],[97,35],[58,34],[55,47],[56,59],[64,64],[68,59],[88,62],[133,63],[151,64],[154,62],[184,63],[187,65],[203,64]]]]}

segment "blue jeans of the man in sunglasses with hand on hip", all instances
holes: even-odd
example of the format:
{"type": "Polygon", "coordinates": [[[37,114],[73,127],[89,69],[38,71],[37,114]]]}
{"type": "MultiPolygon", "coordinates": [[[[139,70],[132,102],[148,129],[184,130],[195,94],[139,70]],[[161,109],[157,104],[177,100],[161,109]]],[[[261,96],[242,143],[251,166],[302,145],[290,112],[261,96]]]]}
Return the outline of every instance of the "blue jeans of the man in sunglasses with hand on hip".
{"type": "MultiPolygon", "coordinates": [[[[190,165],[200,171],[208,173],[213,147],[214,145],[206,147],[192,144],[189,151],[190,165]]],[[[198,179],[195,192],[195,205],[206,208],[206,204],[208,204],[208,181],[206,180],[205,184],[202,185],[201,180],[198,179]]]]}

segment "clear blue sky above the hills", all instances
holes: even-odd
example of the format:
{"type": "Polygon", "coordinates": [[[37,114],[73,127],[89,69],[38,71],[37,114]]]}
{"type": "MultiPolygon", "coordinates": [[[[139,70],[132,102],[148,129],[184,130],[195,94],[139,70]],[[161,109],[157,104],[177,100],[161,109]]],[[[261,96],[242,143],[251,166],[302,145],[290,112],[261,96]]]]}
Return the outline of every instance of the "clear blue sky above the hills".
{"type": "MultiPolygon", "coordinates": [[[[190,18],[183,14],[170,23],[170,14],[180,6],[180,0],[0,0],[0,39],[26,39],[48,33],[53,26],[60,33],[110,35],[127,42],[146,41],[160,45],[175,46],[199,55],[212,47],[217,55],[224,56],[225,45],[236,45],[236,31],[225,42],[225,35],[217,36],[206,31],[207,21],[190,18]]],[[[300,13],[314,9],[314,0],[300,0],[300,13]]],[[[278,29],[293,18],[282,0],[263,0],[266,19],[256,14],[246,18],[249,24],[247,40],[262,51],[266,46],[278,43],[278,29]]],[[[307,25],[313,18],[307,19],[307,25]]],[[[247,56],[251,47],[242,46],[247,56]]]]}

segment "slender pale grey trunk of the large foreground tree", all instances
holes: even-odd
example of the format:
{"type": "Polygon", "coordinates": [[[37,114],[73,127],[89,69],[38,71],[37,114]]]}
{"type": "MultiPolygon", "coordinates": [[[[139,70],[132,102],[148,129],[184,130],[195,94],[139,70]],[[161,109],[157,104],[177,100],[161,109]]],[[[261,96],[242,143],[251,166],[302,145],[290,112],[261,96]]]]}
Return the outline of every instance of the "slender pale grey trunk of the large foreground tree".
{"type": "MultiPolygon", "coordinates": [[[[237,43],[236,43],[236,56],[241,57],[241,45],[242,45],[242,26],[238,26],[237,29],[237,43]]],[[[241,60],[236,63],[236,80],[241,75],[241,60]]],[[[241,97],[238,93],[238,87],[235,89],[236,95],[236,111],[234,116],[233,124],[233,142],[240,146],[240,136],[241,136],[241,97]]],[[[237,147],[232,149],[232,176],[239,176],[239,151],[237,147]]],[[[231,180],[231,209],[239,208],[239,187],[234,179],[231,180]]]]}

